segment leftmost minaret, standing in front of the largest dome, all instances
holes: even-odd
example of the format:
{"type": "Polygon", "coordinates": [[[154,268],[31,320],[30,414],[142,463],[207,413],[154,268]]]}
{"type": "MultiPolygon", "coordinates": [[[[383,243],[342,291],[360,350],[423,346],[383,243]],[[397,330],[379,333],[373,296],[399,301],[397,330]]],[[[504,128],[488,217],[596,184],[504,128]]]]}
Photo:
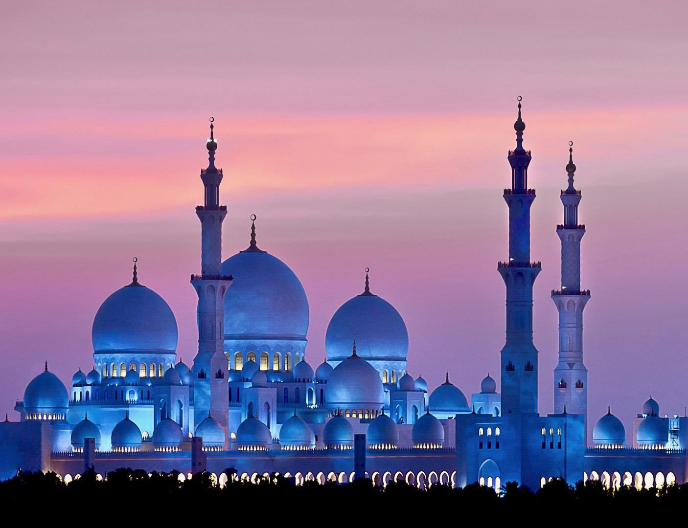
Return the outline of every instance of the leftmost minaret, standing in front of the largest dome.
{"type": "MultiPolygon", "coordinates": [[[[201,274],[191,276],[198,294],[198,353],[193,359],[193,421],[194,430],[208,414],[227,432],[229,393],[228,364],[224,355],[224,294],[232,277],[220,272],[222,264],[222,221],[227,206],[219,205],[219,184],[222,169],[215,168],[215,149],[211,118],[208,140],[208,168],[201,170],[205,190],[202,206],[196,206],[201,221],[201,274]]],[[[225,436],[226,440],[226,436],[225,436]]]]}

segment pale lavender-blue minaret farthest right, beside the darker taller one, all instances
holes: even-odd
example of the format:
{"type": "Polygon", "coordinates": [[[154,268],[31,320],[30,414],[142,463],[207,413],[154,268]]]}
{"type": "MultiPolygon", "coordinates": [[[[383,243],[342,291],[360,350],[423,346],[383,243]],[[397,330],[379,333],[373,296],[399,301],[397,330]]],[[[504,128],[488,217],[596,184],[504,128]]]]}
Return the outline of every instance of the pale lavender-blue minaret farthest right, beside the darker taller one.
{"type": "Polygon", "coordinates": [[[573,142],[569,143],[566,165],[568,188],[561,191],[563,224],[557,225],[561,239],[561,289],[552,290],[559,310],[559,363],[555,369],[555,413],[585,415],[588,439],[588,369],[583,365],[583,309],[590,290],[581,290],[581,239],[585,225],[578,223],[581,191],[573,186],[573,142]]]}

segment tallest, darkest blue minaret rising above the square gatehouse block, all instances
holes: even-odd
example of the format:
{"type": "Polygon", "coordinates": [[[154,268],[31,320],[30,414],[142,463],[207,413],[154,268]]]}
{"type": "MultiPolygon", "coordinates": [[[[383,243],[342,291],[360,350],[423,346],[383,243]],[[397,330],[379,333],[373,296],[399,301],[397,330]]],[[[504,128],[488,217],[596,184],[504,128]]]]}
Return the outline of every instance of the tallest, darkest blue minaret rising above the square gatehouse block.
{"type": "Polygon", "coordinates": [[[502,349],[502,414],[537,412],[537,349],[533,345],[533,283],[541,267],[530,262],[530,206],[535,189],[528,188],[530,151],[523,148],[526,123],[514,123],[516,148],[509,151],[511,188],[504,189],[509,207],[509,259],[497,270],[506,285],[506,344],[502,349]]]}

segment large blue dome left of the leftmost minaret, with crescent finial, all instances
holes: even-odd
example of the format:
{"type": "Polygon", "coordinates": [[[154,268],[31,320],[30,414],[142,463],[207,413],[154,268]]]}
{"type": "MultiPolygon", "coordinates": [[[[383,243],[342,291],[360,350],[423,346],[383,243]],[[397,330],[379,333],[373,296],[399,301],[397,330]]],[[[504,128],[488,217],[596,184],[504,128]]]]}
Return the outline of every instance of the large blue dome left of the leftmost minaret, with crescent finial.
{"type": "Polygon", "coordinates": [[[91,338],[96,353],[174,353],[177,321],[164,299],[135,276],[100,305],[91,338]]]}

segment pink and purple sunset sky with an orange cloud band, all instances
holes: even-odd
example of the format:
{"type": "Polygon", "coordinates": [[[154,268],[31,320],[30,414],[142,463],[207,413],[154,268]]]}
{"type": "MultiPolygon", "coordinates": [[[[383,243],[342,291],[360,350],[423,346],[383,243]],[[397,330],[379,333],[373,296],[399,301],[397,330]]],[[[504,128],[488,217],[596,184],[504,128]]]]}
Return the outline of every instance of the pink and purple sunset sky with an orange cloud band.
{"type": "Polygon", "coordinates": [[[3,1],[0,411],[17,419],[46,359],[65,384],[92,368],[94,315],[133,256],[191,364],[211,115],[224,257],[257,214],[259,246],[308,295],[312,365],[370,267],[405,318],[414,377],[434,387],[449,371],[469,398],[488,371],[499,381],[521,95],[540,412],[572,140],[591,424],[610,405],[629,432],[650,393],[683,415],[687,19],[676,1],[3,1]]]}

